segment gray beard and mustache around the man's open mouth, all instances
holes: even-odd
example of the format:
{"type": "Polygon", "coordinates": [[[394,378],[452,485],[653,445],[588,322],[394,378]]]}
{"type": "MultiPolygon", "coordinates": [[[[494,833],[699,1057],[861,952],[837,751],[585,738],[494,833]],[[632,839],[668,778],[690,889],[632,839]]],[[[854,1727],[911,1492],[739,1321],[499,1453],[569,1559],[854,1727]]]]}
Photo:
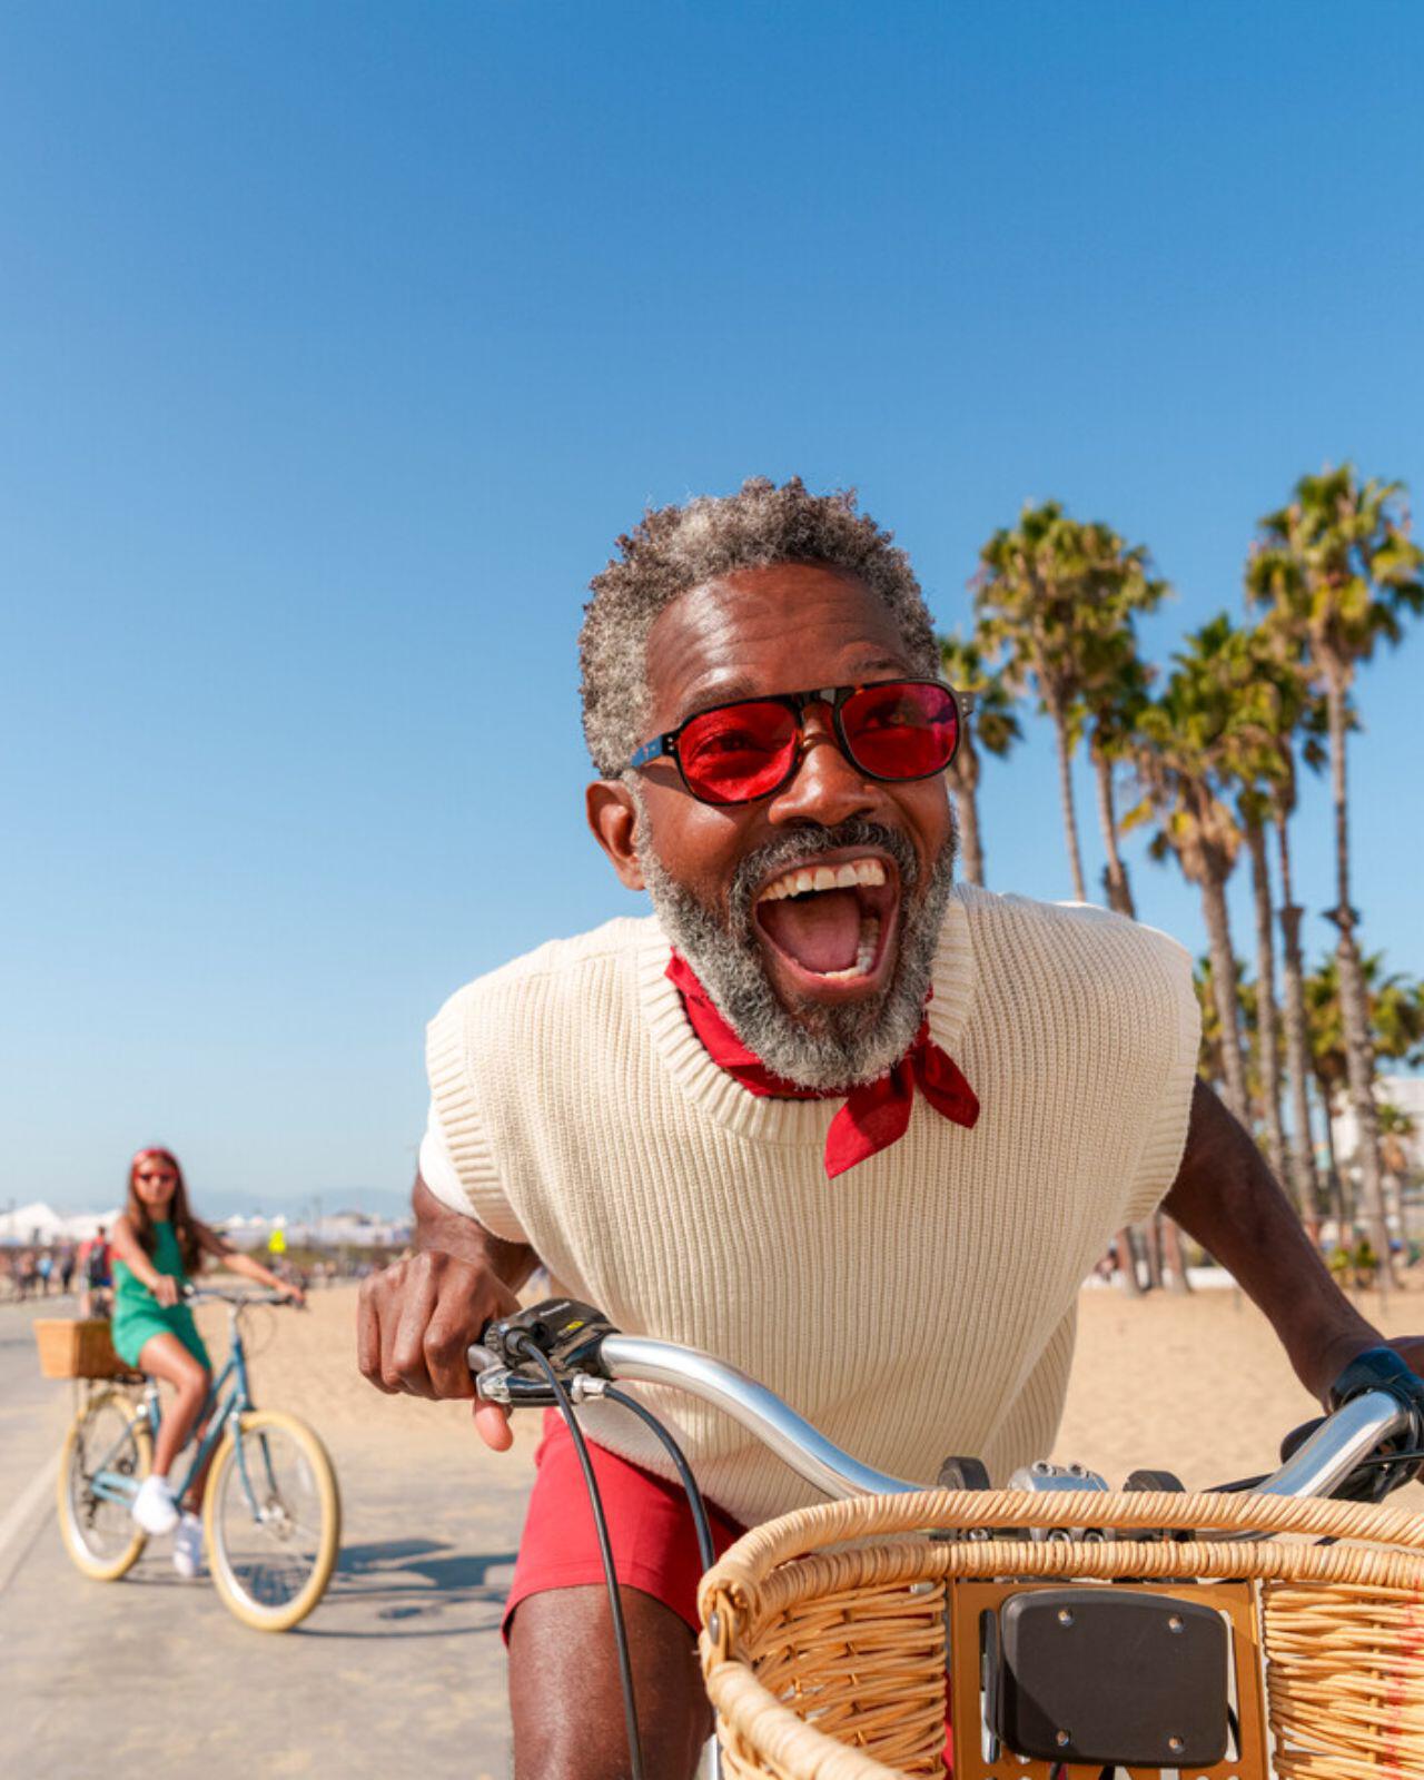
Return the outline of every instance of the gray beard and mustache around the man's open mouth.
{"type": "Polygon", "coordinates": [[[648,812],[637,803],[637,860],[662,931],[687,959],[717,1011],[760,1061],[797,1088],[853,1088],[874,1082],[910,1048],[924,1018],[945,904],[954,883],[951,829],[918,895],[920,863],[895,829],[854,817],[837,828],[799,828],[737,867],[726,913],[705,908],[653,853],[648,812]],[[751,897],[767,876],[837,847],[881,847],[901,874],[899,958],[886,988],[870,1000],[799,1013],[781,1006],[765,972],[751,897]]]}

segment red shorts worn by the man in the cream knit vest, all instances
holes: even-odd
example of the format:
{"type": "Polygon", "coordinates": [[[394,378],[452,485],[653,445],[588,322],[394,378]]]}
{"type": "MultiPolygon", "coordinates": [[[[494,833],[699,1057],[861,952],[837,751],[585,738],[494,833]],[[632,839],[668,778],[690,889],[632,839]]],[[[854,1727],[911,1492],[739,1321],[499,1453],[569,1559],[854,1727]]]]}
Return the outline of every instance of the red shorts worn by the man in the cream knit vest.
{"type": "MultiPolygon", "coordinates": [[[[655,1477],[591,1440],[587,1445],[609,1522],[618,1581],[660,1600],[696,1632],[701,1558],[682,1485],[655,1477]]],[[[550,1588],[603,1586],[587,1485],[573,1438],[557,1410],[545,1410],[545,1436],[534,1463],[538,1476],[504,1607],[506,1641],[514,1607],[529,1595],[543,1595],[550,1588]]],[[[712,1524],[712,1545],[721,1558],[746,1527],[712,1502],[707,1504],[707,1518],[712,1524]]]]}

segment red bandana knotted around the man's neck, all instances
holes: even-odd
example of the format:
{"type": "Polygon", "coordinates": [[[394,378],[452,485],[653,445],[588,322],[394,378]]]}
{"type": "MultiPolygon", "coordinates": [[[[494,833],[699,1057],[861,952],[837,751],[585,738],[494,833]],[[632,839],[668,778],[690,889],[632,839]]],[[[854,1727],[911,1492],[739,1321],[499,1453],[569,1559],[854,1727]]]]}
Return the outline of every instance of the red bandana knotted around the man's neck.
{"type": "MultiPolygon", "coordinates": [[[[676,952],[668,965],[668,981],[682,995],[682,1006],[708,1057],[748,1093],[774,1095],[781,1100],[835,1100],[844,1093],[840,1088],[796,1088],[773,1075],[723,1020],[692,967],[676,952]]],[[[846,1095],[846,1105],[831,1120],[831,1129],[826,1132],[826,1175],[831,1180],[863,1162],[867,1155],[888,1150],[904,1136],[917,1086],[943,1118],[965,1129],[974,1127],[979,1118],[979,1096],[965,1080],[959,1064],[929,1036],[929,1020],[922,1020],[910,1050],[895,1068],[874,1082],[853,1088],[846,1095]]]]}

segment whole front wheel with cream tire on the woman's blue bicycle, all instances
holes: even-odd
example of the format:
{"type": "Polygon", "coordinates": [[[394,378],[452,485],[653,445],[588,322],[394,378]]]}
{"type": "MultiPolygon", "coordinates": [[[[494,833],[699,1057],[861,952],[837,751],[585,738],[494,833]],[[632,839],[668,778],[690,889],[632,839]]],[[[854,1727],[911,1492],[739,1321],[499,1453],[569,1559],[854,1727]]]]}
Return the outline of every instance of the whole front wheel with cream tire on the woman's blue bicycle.
{"type": "Polygon", "coordinates": [[[326,1447],[295,1415],[249,1410],[222,1436],[203,1501],[222,1604],[260,1632],[317,1606],[336,1565],[342,1504],[326,1447]]]}

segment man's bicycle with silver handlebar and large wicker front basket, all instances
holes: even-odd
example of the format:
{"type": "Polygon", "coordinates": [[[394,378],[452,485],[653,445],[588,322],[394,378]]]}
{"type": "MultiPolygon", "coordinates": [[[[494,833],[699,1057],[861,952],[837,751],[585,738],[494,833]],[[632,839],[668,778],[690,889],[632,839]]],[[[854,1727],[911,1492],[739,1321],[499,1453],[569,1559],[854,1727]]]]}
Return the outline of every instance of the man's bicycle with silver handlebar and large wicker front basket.
{"type": "Polygon", "coordinates": [[[703,1552],[714,1775],[942,1775],[952,1723],[956,1780],[1424,1776],[1424,1517],[1381,1506],[1424,1463],[1424,1387],[1388,1349],[1340,1374],[1276,1472],[1193,1495],[1168,1472],[1114,1493],[1047,1461],[993,1490],[968,1458],[924,1490],[735,1367],[570,1299],[490,1324],[468,1363],[482,1397],[555,1404],[571,1431],[575,1403],[609,1397],[659,1433],[703,1552]],[[692,1392],[835,1501],[714,1563],[685,1460],[621,1381],[692,1392]]]}

